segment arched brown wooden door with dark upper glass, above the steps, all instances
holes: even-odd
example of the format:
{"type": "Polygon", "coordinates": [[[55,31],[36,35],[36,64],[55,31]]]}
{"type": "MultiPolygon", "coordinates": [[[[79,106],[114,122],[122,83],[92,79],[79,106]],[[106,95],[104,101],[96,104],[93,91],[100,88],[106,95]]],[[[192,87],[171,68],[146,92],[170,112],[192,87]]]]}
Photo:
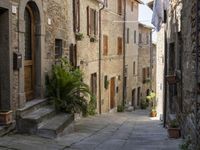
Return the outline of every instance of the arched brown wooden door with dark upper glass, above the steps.
{"type": "Polygon", "coordinates": [[[34,31],[34,16],[29,6],[25,9],[25,57],[24,57],[24,86],[26,100],[32,100],[34,98],[34,43],[35,43],[35,31],[34,31]]]}

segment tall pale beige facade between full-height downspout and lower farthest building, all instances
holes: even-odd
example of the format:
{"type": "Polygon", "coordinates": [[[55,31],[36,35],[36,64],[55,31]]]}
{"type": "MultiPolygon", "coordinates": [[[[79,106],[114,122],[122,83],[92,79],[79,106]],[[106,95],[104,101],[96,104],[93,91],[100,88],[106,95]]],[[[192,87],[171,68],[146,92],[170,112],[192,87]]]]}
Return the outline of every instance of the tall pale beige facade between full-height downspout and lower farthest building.
{"type": "Polygon", "coordinates": [[[138,80],[138,7],[141,2],[127,1],[126,7],[126,103],[137,106],[137,80],[138,80]]]}

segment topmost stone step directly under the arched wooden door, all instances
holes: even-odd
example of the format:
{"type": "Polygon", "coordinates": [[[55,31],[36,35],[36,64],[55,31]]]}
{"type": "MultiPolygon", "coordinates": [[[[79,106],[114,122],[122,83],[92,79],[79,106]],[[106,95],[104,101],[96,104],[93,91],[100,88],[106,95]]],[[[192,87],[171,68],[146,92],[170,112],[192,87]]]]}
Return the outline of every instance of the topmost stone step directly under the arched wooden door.
{"type": "Polygon", "coordinates": [[[16,111],[16,116],[22,117],[30,112],[33,112],[45,105],[47,105],[48,100],[47,99],[34,99],[25,104],[23,108],[20,108],[16,111]]]}

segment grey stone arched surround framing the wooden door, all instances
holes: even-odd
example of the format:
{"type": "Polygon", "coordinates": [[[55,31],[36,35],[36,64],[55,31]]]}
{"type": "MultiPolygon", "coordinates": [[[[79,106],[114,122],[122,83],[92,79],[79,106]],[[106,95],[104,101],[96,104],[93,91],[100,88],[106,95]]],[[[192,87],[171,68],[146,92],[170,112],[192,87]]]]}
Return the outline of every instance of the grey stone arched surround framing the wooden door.
{"type": "MultiPolygon", "coordinates": [[[[19,52],[25,56],[25,11],[27,6],[32,9],[34,23],[34,78],[33,83],[34,97],[42,98],[44,95],[44,69],[43,69],[43,56],[44,56],[44,13],[42,2],[40,0],[21,0],[19,5],[19,52]]],[[[26,102],[25,94],[25,58],[23,57],[22,68],[19,71],[19,102],[22,107],[26,102]]]]}

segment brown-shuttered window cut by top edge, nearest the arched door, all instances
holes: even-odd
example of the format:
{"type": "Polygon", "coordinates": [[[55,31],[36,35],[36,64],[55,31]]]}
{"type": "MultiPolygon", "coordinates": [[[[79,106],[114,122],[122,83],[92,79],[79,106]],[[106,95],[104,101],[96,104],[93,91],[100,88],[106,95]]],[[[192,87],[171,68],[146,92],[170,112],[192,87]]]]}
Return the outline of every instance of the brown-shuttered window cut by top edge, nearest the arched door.
{"type": "Polygon", "coordinates": [[[80,0],[73,0],[74,32],[80,31],[80,0]]]}

